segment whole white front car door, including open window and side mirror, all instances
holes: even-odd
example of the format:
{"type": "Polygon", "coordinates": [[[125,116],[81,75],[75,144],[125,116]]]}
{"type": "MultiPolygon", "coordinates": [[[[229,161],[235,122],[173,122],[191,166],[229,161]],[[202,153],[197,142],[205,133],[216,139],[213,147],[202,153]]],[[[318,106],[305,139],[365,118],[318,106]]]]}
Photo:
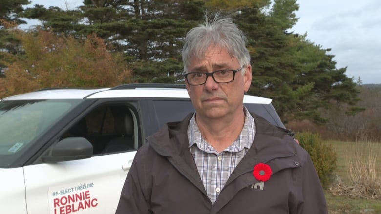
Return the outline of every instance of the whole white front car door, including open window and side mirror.
{"type": "MultiPolygon", "coordinates": [[[[42,154],[42,163],[25,166],[28,214],[114,213],[140,141],[137,114],[134,111],[131,106],[120,105],[95,108],[72,127],[66,128],[68,131],[59,137],[58,142],[42,154]],[[121,109],[126,112],[122,113],[121,109]],[[121,124],[116,124],[116,118],[125,118],[118,115],[119,110],[120,114],[133,115],[134,143],[132,148],[117,147],[110,152],[105,150],[106,145],[111,139],[120,137],[116,127],[121,124]],[[87,126],[85,131],[81,125],[83,121],[87,126]],[[85,146],[80,147],[80,144],[85,146]],[[76,146],[78,148],[71,148],[76,146]],[[91,157],[76,158],[88,148],[92,150],[91,157]],[[66,156],[73,160],[65,160],[55,154],[74,155],[66,156]]],[[[124,121],[120,119],[119,122],[124,121]]]]}

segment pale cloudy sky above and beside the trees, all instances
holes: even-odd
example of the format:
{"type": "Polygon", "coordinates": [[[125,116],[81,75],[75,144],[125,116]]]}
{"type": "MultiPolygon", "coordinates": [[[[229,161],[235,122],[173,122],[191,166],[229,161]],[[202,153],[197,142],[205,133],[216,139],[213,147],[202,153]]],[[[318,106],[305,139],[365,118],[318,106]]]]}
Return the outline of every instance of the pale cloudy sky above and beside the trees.
{"type": "MultiPolygon", "coordinates": [[[[32,5],[74,9],[82,0],[32,0],[32,5]]],[[[336,68],[363,84],[381,84],[381,0],[297,0],[299,18],[292,29],[331,48],[336,68]]]]}

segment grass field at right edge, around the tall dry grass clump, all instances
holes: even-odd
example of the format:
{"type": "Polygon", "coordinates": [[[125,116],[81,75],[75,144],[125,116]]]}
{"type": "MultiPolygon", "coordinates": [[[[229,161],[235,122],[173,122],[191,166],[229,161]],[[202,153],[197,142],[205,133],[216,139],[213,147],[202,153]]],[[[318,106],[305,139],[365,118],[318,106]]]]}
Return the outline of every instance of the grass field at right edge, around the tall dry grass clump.
{"type": "MultiPolygon", "coordinates": [[[[375,168],[381,178],[381,143],[359,143],[327,141],[337,153],[336,176],[345,185],[352,185],[350,179],[350,160],[361,157],[366,160],[369,154],[375,157],[375,168]]],[[[366,199],[338,195],[334,191],[325,191],[330,214],[381,214],[381,199],[366,199]]]]}

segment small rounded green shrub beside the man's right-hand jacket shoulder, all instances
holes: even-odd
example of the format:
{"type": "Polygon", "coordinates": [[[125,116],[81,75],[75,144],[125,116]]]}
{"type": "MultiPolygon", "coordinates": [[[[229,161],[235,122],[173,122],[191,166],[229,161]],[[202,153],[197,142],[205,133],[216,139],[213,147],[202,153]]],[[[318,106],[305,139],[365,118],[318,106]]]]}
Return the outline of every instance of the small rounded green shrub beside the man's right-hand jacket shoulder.
{"type": "Polygon", "coordinates": [[[321,136],[311,132],[296,133],[300,145],[310,154],[323,188],[334,180],[337,154],[331,145],[322,143],[321,136]]]}

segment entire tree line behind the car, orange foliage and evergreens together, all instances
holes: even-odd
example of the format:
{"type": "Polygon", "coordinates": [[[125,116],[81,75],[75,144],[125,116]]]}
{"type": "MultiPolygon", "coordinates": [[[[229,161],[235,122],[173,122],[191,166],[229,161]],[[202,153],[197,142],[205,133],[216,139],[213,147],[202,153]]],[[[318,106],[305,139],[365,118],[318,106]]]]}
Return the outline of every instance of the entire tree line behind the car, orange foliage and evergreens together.
{"type": "Polygon", "coordinates": [[[184,83],[181,48],[205,12],[231,17],[248,38],[248,94],[269,97],[281,118],[324,124],[321,109],[355,115],[358,84],[330,49],[291,31],[296,0],[84,0],[73,10],[0,3],[0,98],[46,87],[184,83]],[[17,28],[25,19],[41,24],[17,28]]]}

